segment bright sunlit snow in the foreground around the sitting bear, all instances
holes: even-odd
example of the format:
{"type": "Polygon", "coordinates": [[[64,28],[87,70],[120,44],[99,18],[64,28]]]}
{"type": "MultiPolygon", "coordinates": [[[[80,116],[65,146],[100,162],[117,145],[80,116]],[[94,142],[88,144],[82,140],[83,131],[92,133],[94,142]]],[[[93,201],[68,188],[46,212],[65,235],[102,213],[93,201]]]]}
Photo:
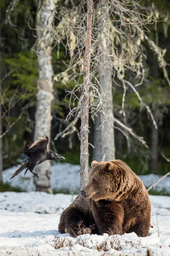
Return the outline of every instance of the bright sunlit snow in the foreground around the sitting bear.
{"type": "Polygon", "coordinates": [[[58,232],[61,212],[74,198],[43,192],[0,193],[0,256],[146,256],[147,248],[152,256],[170,255],[170,197],[150,196],[153,228],[145,238],[130,233],[76,239],[58,232]],[[63,245],[56,250],[59,243],[63,245]]]}

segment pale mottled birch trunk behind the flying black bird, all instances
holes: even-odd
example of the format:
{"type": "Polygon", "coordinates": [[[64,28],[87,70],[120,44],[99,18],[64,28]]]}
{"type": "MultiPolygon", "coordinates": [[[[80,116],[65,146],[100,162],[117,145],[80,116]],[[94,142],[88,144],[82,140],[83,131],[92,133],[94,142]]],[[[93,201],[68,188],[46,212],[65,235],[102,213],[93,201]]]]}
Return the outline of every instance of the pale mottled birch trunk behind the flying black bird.
{"type": "MultiPolygon", "coordinates": [[[[39,80],[37,81],[37,108],[35,113],[35,136],[51,134],[51,105],[53,100],[52,84],[52,23],[54,20],[55,0],[44,0],[40,12],[37,14],[37,57],[39,80]]],[[[50,188],[50,161],[45,161],[36,167],[41,179],[35,177],[34,183],[37,191],[52,193],[50,188]]]]}

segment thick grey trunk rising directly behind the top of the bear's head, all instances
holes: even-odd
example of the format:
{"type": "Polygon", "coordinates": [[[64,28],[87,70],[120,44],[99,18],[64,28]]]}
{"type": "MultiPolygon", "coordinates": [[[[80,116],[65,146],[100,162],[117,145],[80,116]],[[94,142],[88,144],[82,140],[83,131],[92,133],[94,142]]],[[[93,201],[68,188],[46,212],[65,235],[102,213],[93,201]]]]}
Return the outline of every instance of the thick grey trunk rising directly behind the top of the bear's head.
{"type": "MultiPolygon", "coordinates": [[[[99,131],[95,131],[98,137],[101,137],[101,146],[95,148],[95,155],[99,156],[100,161],[109,161],[115,159],[115,136],[114,136],[114,115],[113,115],[113,97],[112,97],[112,66],[108,55],[110,55],[109,42],[109,6],[107,0],[101,0],[102,19],[98,22],[98,31],[101,38],[100,49],[101,57],[99,64],[100,84],[105,94],[103,110],[107,116],[99,131]],[[101,132],[101,134],[99,134],[101,132]]],[[[100,117],[100,116],[99,116],[100,117]]],[[[97,121],[97,125],[100,124],[97,121]]],[[[99,126],[99,125],[98,125],[99,126]]],[[[95,134],[96,136],[96,134],[95,134]]],[[[94,143],[96,146],[96,143],[94,143]]]]}

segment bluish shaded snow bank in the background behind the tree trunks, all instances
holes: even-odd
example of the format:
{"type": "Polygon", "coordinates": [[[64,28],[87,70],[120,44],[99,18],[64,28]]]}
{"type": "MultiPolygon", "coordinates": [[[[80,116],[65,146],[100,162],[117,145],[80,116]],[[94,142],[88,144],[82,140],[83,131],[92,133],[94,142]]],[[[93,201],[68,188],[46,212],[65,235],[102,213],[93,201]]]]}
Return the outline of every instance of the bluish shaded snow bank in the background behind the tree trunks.
{"type": "MultiPolygon", "coordinates": [[[[10,182],[12,186],[19,186],[24,191],[35,191],[35,186],[32,179],[32,173],[27,172],[26,176],[23,176],[24,172],[9,180],[18,166],[13,166],[10,169],[3,171],[4,182],[10,182]]],[[[52,189],[61,190],[70,193],[78,193],[80,191],[80,166],[70,163],[55,163],[51,166],[51,186],[52,189]]],[[[149,187],[157,180],[161,175],[139,175],[143,181],[145,187],[149,187]]],[[[170,193],[170,176],[166,177],[155,187],[157,191],[164,191],[170,193]]]]}

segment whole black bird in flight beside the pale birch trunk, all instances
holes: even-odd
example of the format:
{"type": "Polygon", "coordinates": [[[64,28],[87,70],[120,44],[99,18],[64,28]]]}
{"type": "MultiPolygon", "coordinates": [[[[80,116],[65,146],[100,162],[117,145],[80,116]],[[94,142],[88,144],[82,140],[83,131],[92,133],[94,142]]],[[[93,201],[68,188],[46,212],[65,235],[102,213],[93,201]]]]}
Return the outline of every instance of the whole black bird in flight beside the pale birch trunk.
{"type": "Polygon", "coordinates": [[[51,151],[47,151],[47,144],[49,142],[48,137],[39,137],[35,141],[30,141],[26,143],[23,154],[21,155],[22,158],[27,157],[21,166],[17,169],[17,171],[12,175],[10,180],[26,169],[24,175],[29,170],[40,179],[40,176],[34,171],[34,168],[37,164],[43,163],[46,160],[53,160],[53,159],[65,159],[59,154],[56,154],[51,151]]]}

